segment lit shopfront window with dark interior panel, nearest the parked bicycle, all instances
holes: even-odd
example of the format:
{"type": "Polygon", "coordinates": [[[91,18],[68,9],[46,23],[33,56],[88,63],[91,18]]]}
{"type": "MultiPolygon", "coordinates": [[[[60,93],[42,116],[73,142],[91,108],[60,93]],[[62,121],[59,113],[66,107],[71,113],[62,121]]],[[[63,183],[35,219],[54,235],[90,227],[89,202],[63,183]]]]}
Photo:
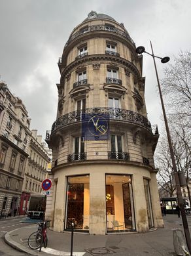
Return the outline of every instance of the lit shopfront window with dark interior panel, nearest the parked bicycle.
{"type": "Polygon", "coordinates": [[[65,229],[89,230],[90,177],[89,175],[68,177],[67,209],[65,229]]]}

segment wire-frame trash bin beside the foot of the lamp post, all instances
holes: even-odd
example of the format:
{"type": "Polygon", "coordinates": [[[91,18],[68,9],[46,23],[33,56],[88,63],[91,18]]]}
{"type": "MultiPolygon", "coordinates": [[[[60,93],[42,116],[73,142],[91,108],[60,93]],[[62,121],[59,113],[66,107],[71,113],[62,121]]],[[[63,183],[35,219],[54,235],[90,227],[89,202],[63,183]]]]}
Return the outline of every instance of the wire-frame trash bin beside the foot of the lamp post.
{"type": "Polygon", "coordinates": [[[189,256],[188,247],[186,245],[186,240],[181,229],[173,229],[173,244],[175,253],[179,256],[189,256]]]}

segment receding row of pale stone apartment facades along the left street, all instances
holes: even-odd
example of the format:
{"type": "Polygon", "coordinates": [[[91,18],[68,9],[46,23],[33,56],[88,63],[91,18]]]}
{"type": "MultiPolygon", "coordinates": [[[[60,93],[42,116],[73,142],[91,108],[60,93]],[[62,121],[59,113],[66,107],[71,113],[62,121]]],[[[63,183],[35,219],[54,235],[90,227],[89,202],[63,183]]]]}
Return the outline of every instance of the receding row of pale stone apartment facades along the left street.
{"type": "Polygon", "coordinates": [[[31,192],[41,192],[49,163],[26,106],[0,81],[0,214],[22,214],[31,192]]]}

